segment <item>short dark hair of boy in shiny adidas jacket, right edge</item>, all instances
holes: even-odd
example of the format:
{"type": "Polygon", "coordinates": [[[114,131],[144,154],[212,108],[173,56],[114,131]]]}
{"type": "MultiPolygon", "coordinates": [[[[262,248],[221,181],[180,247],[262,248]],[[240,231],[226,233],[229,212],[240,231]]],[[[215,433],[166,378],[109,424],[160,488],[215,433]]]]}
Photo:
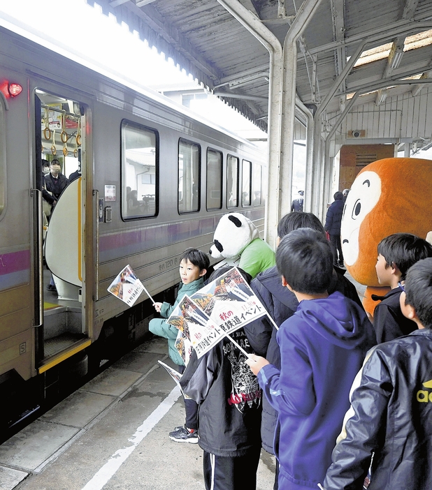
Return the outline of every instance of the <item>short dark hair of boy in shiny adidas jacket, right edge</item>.
{"type": "Polygon", "coordinates": [[[424,328],[432,328],[432,258],[410,267],[405,279],[405,304],[410,304],[424,328]]]}

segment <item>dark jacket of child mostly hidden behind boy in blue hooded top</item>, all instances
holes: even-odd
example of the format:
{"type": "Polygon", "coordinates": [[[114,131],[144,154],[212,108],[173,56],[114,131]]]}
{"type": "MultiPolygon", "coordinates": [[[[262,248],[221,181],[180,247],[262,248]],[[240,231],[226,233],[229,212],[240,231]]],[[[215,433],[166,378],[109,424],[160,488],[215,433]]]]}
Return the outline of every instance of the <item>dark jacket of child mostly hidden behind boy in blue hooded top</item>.
{"type": "MultiPolygon", "coordinates": [[[[343,269],[335,268],[329,293],[339,291],[363,308],[354,284],[343,276],[344,273],[345,271],[343,269]]],[[[280,274],[276,267],[271,267],[258,274],[252,283],[250,283],[250,287],[261,303],[264,304],[264,307],[269,315],[271,315],[271,318],[275,320],[278,327],[296,312],[298,306],[297,298],[293,292],[290,292],[282,286],[280,274]]],[[[276,341],[277,330],[273,327],[270,320],[264,316],[259,318],[259,320],[245,325],[245,333],[254,352],[266,357],[268,362],[280,369],[280,350],[276,341]]],[[[275,438],[277,421],[278,413],[264,396],[261,440],[264,449],[271,454],[274,454],[273,440],[275,438]]]]}

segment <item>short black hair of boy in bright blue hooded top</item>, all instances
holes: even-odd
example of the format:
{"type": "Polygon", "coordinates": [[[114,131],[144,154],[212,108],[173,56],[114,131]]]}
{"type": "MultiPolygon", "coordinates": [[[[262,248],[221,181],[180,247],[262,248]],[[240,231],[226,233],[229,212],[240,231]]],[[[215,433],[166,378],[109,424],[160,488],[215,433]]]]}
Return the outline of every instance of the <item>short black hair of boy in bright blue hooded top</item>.
{"type": "Polygon", "coordinates": [[[276,267],[296,292],[326,292],[333,276],[333,253],[321,232],[298,228],[286,235],[276,250],[276,267]]]}

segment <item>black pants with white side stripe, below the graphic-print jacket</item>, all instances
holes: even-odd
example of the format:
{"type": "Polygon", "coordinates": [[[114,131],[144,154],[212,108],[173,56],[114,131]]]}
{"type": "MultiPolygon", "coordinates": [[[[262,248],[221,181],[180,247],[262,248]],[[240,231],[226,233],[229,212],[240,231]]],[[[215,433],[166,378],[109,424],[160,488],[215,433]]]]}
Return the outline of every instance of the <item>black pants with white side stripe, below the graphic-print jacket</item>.
{"type": "Polygon", "coordinates": [[[255,490],[261,447],[245,456],[215,456],[204,451],[203,470],[206,490],[255,490]]]}

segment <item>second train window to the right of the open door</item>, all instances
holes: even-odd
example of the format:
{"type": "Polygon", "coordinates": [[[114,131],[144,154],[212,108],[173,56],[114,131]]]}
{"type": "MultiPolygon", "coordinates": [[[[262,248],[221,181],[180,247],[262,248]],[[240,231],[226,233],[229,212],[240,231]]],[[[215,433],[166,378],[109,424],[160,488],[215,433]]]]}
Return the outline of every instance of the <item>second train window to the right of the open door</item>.
{"type": "Polygon", "coordinates": [[[178,142],[178,212],[199,211],[200,151],[199,144],[180,139],[178,142]]]}

